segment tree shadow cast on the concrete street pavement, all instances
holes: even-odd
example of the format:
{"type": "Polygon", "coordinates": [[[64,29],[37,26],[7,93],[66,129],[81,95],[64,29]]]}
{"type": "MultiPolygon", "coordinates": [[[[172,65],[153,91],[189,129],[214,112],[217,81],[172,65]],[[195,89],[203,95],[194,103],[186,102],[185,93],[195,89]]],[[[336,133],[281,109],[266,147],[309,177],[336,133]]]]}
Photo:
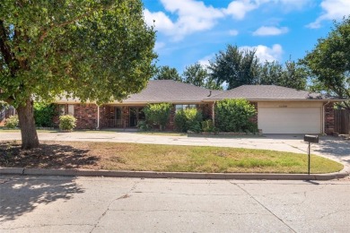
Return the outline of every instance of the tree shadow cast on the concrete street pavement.
{"type": "Polygon", "coordinates": [[[69,200],[84,192],[74,177],[0,177],[0,225],[39,205],[69,200]]]}

